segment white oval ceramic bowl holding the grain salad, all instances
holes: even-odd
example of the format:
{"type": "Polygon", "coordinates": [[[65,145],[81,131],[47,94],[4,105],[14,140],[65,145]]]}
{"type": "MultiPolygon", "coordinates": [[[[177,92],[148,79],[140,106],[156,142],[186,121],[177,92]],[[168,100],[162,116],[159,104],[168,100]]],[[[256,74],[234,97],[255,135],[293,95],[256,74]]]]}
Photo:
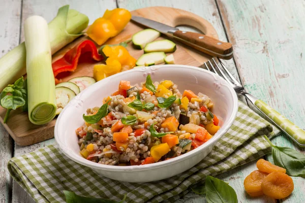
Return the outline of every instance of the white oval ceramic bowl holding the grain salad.
{"type": "Polygon", "coordinates": [[[119,73],[101,80],[78,94],[60,113],[55,124],[55,140],[60,150],[77,163],[92,168],[98,175],[125,182],[149,182],[180,174],[201,161],[232,125],[238,109],[233,88],[214,73],[188,65],[156,65],[119,73]],[[146,165],[115,166],[88,161],[79,154],[75,129],[83,125],[88,108],[101,106],[102,99],[117,90],[120,80],[140,84],[150,74],[153,81],[172,80],[180,92],[190,89],[208,95],[213,112],[223,118],[220,130],[200,147],[173,159],[146,165]]]}

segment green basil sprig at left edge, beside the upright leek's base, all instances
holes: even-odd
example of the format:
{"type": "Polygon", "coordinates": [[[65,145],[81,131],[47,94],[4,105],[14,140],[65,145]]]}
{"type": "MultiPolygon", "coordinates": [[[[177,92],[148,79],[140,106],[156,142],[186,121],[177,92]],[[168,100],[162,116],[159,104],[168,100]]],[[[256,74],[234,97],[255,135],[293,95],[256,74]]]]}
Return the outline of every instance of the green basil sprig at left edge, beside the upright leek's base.
{"type": "Polygon", "coordinates": [[[27,91],[26,81],[24,82],[23,77],[15,81],[14,84],[8,85],[0,94],[0,105],[7,109],[7,113],[4,117],[3,122],[6,123],[9,114],[12,110],[19,107],[23,107],[23,110],[27,110],[27,91]]]}

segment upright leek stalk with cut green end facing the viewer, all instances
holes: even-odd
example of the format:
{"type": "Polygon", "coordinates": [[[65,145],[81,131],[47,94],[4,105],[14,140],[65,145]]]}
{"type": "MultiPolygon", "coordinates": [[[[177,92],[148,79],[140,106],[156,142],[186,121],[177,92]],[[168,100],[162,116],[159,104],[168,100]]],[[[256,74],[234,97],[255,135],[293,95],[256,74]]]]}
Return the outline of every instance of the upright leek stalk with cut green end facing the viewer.
{"type": "Polygon", "coordinates": [[[24,22],[28,118],[37,125],[56,115],[55,80],[47,21],[32,16],[24,22]]]}

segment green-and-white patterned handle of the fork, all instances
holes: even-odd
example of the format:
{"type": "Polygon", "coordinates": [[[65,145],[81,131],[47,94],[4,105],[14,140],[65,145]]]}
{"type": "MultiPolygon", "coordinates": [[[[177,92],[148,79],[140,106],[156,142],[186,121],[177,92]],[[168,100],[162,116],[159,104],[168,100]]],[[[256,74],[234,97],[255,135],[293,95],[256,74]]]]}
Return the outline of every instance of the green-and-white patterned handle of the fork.
{"type": "Polygon", "coordinates": [[[303,129],[299,128],[260,99],[256,100],[254,105],[272,119],[273,122],[277,123],[282,129],[284,129],[285,133],[288,133],[288,136],[296,140],[299,145],[305,144],[305,131],[303,129]]]}

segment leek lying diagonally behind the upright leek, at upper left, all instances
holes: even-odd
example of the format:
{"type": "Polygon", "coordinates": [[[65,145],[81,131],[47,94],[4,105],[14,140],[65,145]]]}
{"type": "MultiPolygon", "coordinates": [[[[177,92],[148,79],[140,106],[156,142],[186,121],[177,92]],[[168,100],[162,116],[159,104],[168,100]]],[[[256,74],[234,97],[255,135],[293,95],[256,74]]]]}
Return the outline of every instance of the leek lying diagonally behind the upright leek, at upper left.
{"type": "MultiPolygon", "coordinates": [[[[69,10],[69,5],[58,9],[56,17],[49,23],[51,53],[54,54],[79,36],[89,23],[86,15],[69,10]]],[[[14,83],[26,73],[25,45],[21,43],[0,59],[0,91],[14,83]]]]}

